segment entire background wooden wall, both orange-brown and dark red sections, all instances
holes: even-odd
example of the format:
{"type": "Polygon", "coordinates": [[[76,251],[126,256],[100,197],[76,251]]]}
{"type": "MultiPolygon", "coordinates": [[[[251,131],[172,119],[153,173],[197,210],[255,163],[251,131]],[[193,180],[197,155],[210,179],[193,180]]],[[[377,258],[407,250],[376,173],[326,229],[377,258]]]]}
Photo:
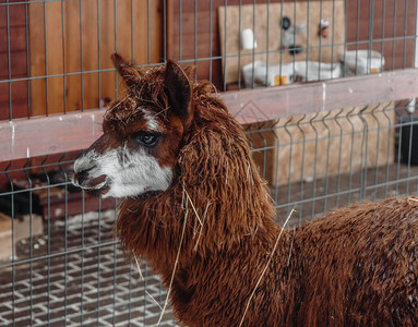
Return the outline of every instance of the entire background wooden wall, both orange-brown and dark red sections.
{"type": "MultiPolygon", "coordinates": [[[[132,57],[140,64],[163,61],[164,0],[34,1],[27,5],[12,4],[16,1],[11,0],[8,5],[4,1],[0,3],[0,82],[9,80],[9,60],[12,80],[32,80],[29,83],[0,83],[0,120],[9,119],[9,90],[12,95],[12,118],[97,108],[100,99],[114,99],[117,95],[115,89],[121,89],[109,60],[109,55],[115,50],[132,57]],[[98,73],[98,70],[105,71],[98,73]],[[46,78],[47,75],[50,77],[46,78]]],[[[223,89],[217,10],[219,5],[225,5],[225,0],[166,1],[167,58],[191,62],[195,58],[206,58],[196,62],[198,77],[212,78],[223,89]]],[[[239,2],[228,0],[227,4],[239,2]]],[[[252,4],[253,1],[242,0],[241,3],[252,4]]],[[[385,70],[411,66],[416,16],[414,0],[373,1],[372,28],[369,28],[369,0],[346,3],[349,50],[367,49],[368,40],[374,39],[372,48],[384,53],[385,70]],[[404,40],[405,36],[409,39],[404,40]],[[381,41],[382,38],[393,37],[399,39],[381,41]]]]}

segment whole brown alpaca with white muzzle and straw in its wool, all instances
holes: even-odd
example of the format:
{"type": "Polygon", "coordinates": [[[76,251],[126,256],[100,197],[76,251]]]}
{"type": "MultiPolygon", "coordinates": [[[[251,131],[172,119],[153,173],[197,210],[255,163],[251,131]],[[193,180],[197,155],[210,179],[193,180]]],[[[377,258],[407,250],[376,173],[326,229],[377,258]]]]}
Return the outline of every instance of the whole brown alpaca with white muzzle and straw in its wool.
{"type": "Polygon", "coordinates": [[[418,326],[417,198],[282,230],[213,85],[172,61],[112,60],[129,92],[75,161],[74,183],[122,198],[119,237],[171,286],[182,325],[418,326]]]}

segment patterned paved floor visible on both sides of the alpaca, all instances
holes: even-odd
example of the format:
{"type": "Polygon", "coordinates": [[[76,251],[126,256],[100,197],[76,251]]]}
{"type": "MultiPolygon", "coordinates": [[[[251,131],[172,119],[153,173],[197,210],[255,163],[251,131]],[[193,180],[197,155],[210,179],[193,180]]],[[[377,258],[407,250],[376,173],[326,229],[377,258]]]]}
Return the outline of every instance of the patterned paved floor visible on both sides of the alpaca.
{"type": "MultiPolygon", "coordinates": [[[[391,165],[317,181],[290,181],[289,186],[271,191],[278,223],[296,208],[291,227],[349,203],[417,194],[417,186],[418,167],[391,165]]],[[[46,223],[43,237],[20,241],[17,263],[0,264],[0,325],[155,325],[166,291],[145,263],[141,263],[142,279],[136,265],[126,259],[114,238],[115,219],[114,210],[69,217],[67,223],[46,223]]],[[[168,310],[160,326],[175,325],[168,310]]]]}

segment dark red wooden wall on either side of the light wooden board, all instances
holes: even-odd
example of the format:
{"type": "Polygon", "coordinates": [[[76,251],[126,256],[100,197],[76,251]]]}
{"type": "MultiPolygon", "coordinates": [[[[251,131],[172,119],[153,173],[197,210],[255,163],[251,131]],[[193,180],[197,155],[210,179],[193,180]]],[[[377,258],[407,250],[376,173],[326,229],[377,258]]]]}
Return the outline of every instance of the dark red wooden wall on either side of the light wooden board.
{"type": "MultiPolygon", "coordinates": [[[[193,60],[194,53],[198,58],[220,56],[219,48],[219,28],[217,9],[225,5],[224,0],[168,0],[169,2],[169,34],[168,34],[168,58],[176,60],[193,60]],[[181,8],[180,8],[181,2],[181,8]],[[212,2],[212,21],[210,20],[212,2]],[[196,28],[194,28],[196,7],[196,28]],[[180,20],[181,11],[181,20],[180,20]],[[181,31],[180,31],[181,22],[181,31]],[[212,25],[211,25],[212,22],[212,25]],[[212,38],[211,38],[212,31],[212,38]],[[181,32],[181,33],[180,33],[181,32]],[[196,47],[195,34],[199,35],[196,47]],[[181,37],[180,37],[181,36],[181,37]],[[180,51],[181,45],[181,51],[180,51]]],[[[299,1],[299,0],[298,0],[299,1]]],[[[311,0],[312,1],[312,0],[311,0]]],[[[330,0],[322,0],[330,1],[330,0]]],[[[252,4],[252,0],[228,0],[227,4],[252,4]]],[[[266,0],[258,0],[256,3],[266,3],[266,0]]],[[[271,0],[271,3],[282,2],[280,0],[271,0]]],[[[294,2],[294,0],[285,0],[284,2],[294,2]]],[[[415,17],[416,1],[414,0],[385,0],[373,1],[373,26],[372,35],[369,35],[369,13],[370,0],[348,0],[346,1],[347,12],[347,43],[361,43],[358,49],[367,49],[368,40],[374,39],[372,49],[383,52],[385,57],[385,70],[394,70],[402,68],[410,68],[413,65],[414,47],[415,47],[415,17]],[[359,7],[358,7],[359,3],[359,7]],[[359,17],[357,20],[357,17],[359,17]],[[395,28],[394,28],[395,26],[395,28]],[[405,33],[406,32],[406,33],[405,33]],[[409,36],[410,40],[384,40],[382,38],[393,38],[409,36]]],[[[272,19],[272,17],[271,17],[272,19]]],[[[356,50],[355,45],[348,45],[348,50],[356,50]]],[[[223,89],[222,60],[199,61],[198,78],[208,78],[210,68],[212,65],[212,81],[215,85],[223,89]]]]}

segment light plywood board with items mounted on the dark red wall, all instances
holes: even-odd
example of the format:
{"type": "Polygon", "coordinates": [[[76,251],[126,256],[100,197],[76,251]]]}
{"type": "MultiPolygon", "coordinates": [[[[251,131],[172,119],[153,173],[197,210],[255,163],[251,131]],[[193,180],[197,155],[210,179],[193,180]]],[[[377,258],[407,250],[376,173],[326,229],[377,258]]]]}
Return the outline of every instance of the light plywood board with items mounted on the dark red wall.
{"type": "Polygon", "coordinates": [[[344,51],[344,1],[335,0],[219,7],[220,53],[229,56],[223,61],[226,83],[239,82],[239,71],[253,60],[268,61],[271,65],[306,60],[338,62],[338,53],[344,51]],[[270,16],[277,19],[267,20],[270,16]],[[285,37],[279,19],[283,16],[290,17],[292,26],[304,24],[307,33],[297,34],[295,45],[303,49],[309,46],[308,50],[295,56],[287,51],[277,51],[282,49],[282,38],[285,37]],[[318,34],[321,19],[327,20],[331,24],[330,37],[320,37],[318,34]],[[254,33],[258,46],[253,50],[244,50],[240,44],[241,33],[247,28],[254,33]],[[268,56],[264,53],[252,56],[253,52],[265,52],[267,49],[268,56]]]}

